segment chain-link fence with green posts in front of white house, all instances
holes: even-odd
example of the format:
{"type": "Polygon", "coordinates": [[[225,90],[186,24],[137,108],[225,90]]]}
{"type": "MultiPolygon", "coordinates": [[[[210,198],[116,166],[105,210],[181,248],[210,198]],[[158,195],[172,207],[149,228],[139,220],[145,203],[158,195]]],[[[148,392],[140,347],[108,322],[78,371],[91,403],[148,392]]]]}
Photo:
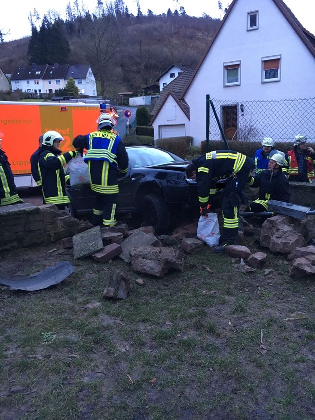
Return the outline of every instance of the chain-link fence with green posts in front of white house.
{"type": "MultiPolygon", "coordinates": [[[[212,99],[227,140],[292,141],[298,133],[315,142],[315,98],[263,101],[212,99]]],[[[210,113],[209,139],[219,140],[219,126],[210,113]]]]}

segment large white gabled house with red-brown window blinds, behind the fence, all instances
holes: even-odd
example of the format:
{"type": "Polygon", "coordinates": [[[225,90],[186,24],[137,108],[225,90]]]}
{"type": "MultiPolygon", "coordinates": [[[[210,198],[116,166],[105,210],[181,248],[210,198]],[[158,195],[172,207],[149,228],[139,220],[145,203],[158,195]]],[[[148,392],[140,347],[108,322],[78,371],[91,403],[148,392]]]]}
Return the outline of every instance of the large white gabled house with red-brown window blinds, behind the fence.
{"type": "MultiPolygon", "coordinates": [[[[240,125],[252,126],[252,121],[259,136],[277,139],[276,127],[289,126],[291,136],[303,131],[315,139],[314,74],[315,37],[282,0],[233,0],[180,97],[189,105],[194,144],[206,138],[207,94],[219,101],[216,111],[228,139],[237,138],[240,125]],[[289,110],[284,101],[307,98],[304,117],[296,119],[300,105],[289,110]],[[283,102],[272,110],[271,102],[262,107],[266,101],[283,102]],[[261,104],[255,111],[254,102],[261,104]],[[275,116],[274,128],[268,128],[268,119],[275,116]]],[[[210,139],[217,139],[217,133],[211,136],[210,130],[210,139]]]]}

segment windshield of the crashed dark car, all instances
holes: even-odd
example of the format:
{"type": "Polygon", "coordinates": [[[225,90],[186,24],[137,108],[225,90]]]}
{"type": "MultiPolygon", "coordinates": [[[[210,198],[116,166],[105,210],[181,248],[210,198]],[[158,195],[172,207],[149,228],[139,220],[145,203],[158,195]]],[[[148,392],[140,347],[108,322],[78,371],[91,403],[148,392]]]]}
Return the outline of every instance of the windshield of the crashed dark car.
{"type": "MultiPolygon", "coordinates": [[[[176,160],[167,151],[150,147],[127,148],[129,166],[145,167],[172,163],[176,160]]],[[[178,157],[179,160],[179,157],[178,157]]]]}

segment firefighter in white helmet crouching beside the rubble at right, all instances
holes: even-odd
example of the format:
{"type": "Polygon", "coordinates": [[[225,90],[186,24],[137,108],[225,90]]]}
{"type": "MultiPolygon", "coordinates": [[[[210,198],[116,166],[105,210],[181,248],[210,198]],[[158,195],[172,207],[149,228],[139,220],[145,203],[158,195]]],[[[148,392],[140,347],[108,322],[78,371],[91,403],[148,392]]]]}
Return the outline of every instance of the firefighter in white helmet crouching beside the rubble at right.
{"type": "Polygon", "coordinates": [[[269,211],[269,200],[290,202],[289,181],[282,171],[286,165],[284,153],[275,153],[270,156],[268,169],[251,177],[249,185],[252,188],[260,187],[259,198],[252,202],[245,212],[269,211]]]}

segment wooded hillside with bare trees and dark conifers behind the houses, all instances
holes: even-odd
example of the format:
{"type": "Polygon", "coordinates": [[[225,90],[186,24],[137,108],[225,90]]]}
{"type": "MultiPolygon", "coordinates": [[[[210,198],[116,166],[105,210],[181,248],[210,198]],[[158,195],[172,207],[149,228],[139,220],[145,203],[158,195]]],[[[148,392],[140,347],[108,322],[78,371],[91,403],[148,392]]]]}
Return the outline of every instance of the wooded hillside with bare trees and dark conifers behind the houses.
{"type": "Polygon", "coordinates": [[[172,64],[195,68],[220,24],[205,14],[188,16],[182,7],[158,16],[139,10],[133,16],[122,0],[92,15],[85,10],[74,13],[69,3],[66,20],[49,10],[38,28],[32,18],[31,37],[0,45],[2,70],[11,73],[31,62],[88,63],[101,93],[108,96],[141,93],[172,64]]]}

